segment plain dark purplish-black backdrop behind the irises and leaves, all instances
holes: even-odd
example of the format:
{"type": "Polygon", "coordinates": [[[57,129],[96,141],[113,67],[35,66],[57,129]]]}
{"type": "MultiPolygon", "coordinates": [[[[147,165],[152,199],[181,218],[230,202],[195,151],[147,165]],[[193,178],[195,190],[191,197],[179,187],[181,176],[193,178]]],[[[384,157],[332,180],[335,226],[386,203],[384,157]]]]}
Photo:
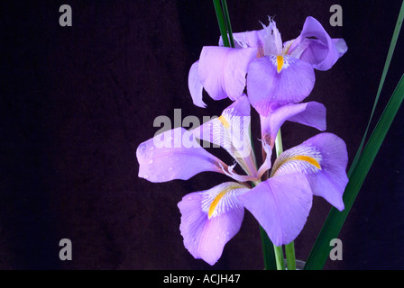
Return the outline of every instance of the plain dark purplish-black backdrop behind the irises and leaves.
{"type": "MultiPolygon", "coordinates": [[[[401,1],[229,0],[234,31],[261,29],[275,16],[282,40],[308,15],[349,50],[316,72],[306,101],[327,108],[327,131],[346,141],[350,161],[372,110],[401,1]],[[343,27],[329,8],[341,4],[343,27]]],[[[135,149],[157,116],[219,115],[230,103],[192,104],[188,69],[219,31],[212,1],[2,1],[0,91],[1,269],[262,269],[259,227],[247,211],[216,266],[190,256],[177,203],[221,183],[205,173],[152,184],[138,178],[135,149]],[[60,27],[70,4],[73,26],[60,27]],[[69,238],[73,260],[60,261],[69,238]]],[[[404,35],[381,94],[384,107],[404,71],[404,35]]],[[[379,117],[381,108],[376,111],[379,117]]],[[[339,235],[344,260],[326,269],[404,268],[404,111],[401,107],[339,235]]],[[[255,118],[256,119],[256,118],[255,118]]],[[[258,125],[254,121],[253,125],[258,125]]],[[[373,123],[374,124],[374,123],[373,123]]],[[[287,123],[284,148],[317,130],[287,123]]],[[[258,144],[257,144],[258,145],[258,144]]],[[[305,260],[330,205],[315,198],[295,241],[305,260]]]]}

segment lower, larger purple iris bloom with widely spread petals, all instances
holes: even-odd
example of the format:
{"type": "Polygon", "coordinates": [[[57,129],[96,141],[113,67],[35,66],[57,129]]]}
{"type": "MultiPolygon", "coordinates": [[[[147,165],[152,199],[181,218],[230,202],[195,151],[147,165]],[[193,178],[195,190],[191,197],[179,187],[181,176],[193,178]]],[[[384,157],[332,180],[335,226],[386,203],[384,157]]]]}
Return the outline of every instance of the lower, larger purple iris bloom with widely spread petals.
{"type": "Polygon", "coordinates": [[[143,142],[136,151],[139,176],[151,182],[187,180],[204,171],[232,178],[208,190],[189,193],[178,204],[184,246],[193,257],[210,265],[216,263],[225,244],[239,231],[244,208],[252,212],[276,246],[289,244],[298,236],[308,218],[313,195],[324,197],[340,211],[344,209],[347,152],[344,141],[334,134],[320,133],[284,151],[271,167],[272,139],[281,124],[297,121],[325,130],[324,106],[291,103],[262,118],[262,135],[267,136],[262,145],[267,157],[259,169],[251,147],[250,109],[243,94],[220,117],[194,130],[166,131],[158,135],[158,140],[155,137],[143,142]],[[225,148],[235,164],[226,165],[202,148],[197,139],[225,148]],[[234,172],[236,164],[245,175],[234,172]],[[271,176],[261,182],[263,173],[270,168],[271,176]]]}

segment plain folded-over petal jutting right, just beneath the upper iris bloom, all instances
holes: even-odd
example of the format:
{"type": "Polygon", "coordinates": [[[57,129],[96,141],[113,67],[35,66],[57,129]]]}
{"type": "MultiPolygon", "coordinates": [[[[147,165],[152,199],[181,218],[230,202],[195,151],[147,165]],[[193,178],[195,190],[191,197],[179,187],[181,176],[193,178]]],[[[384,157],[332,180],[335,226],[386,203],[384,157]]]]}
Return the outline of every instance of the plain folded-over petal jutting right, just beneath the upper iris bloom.
{"type": "Polygon", "coordinates": [[[262,140],[273,148],[280,126],[285,121],[295,121],[326,130],[326,107],[322,103],[291,103],[272,110],[268,116],[260,116],[262,140]]]}

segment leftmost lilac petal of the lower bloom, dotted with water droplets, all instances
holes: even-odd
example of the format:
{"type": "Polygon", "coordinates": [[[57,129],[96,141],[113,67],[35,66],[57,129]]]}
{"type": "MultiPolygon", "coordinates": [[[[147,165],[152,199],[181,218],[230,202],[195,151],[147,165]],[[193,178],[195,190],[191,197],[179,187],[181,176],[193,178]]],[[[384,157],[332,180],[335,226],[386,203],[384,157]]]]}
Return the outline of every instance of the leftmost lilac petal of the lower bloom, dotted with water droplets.
{"type": "Polygon", "coordinates": [[[148,139],[136,150],[139,177],[151,182],[188,180],[204,171],[224,173],[227,166],[200,147],[192,133],[182,127],[148,139]]]}

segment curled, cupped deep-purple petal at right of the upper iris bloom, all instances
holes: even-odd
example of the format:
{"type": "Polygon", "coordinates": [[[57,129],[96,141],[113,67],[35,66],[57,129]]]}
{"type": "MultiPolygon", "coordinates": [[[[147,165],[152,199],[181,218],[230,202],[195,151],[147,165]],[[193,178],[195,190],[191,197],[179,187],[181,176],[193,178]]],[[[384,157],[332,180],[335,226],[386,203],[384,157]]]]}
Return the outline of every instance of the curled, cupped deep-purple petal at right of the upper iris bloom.
{"type": "Polygon", "coordinates": [[[348,47],[343,39],[332,39],[315,18],[308,17],[303,30],[289,49],[289,55],[300,58],[317,70],[328,70],[348,47]]]}

